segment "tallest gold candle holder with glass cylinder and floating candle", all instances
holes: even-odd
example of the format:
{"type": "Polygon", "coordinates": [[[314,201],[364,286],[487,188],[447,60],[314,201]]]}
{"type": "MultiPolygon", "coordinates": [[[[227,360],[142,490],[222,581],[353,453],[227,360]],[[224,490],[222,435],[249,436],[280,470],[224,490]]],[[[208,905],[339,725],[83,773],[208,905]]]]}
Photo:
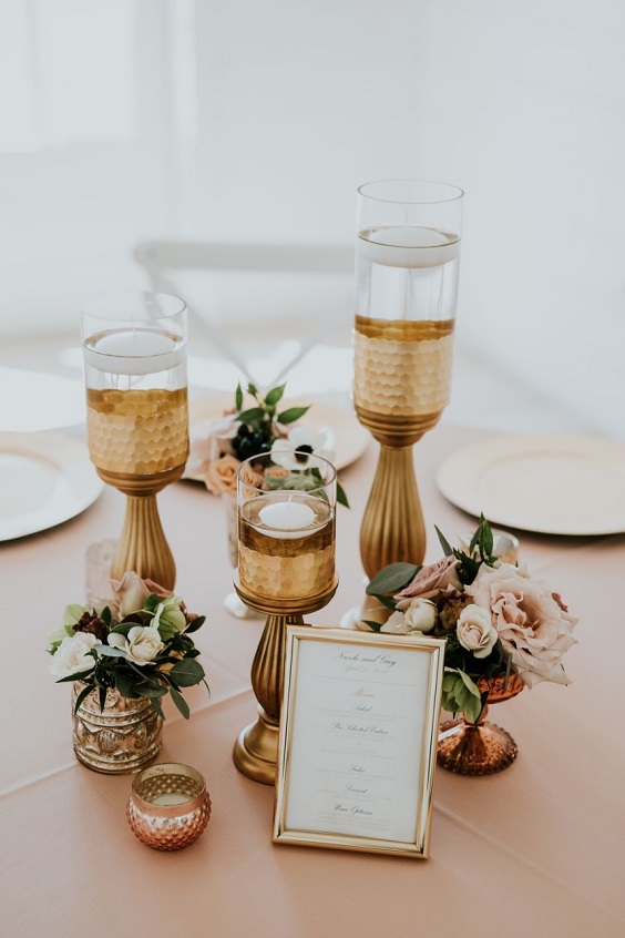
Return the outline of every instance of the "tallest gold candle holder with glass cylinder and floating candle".
{"type": "Polygon", "coordinates": [[[360,529],[368,577],[426,552],[412,447],[449,401],[462,195],[417,180],[358,190],[354,407],[380,443],[360,529]]]}

